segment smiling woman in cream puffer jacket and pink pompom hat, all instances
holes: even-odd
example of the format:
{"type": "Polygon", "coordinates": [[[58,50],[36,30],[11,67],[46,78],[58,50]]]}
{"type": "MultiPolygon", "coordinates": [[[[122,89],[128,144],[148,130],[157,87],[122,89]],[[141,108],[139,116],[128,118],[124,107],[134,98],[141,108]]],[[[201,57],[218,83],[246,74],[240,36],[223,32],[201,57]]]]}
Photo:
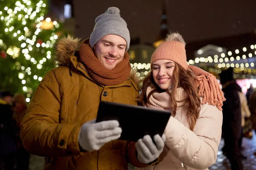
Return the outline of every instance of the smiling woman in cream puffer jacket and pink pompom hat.
{"type": "Polygon", "coordinates": [[[188,66],[182,36],[169,34],[152,54],[138,99],[172,112],[160,161],[144,170],[208,170],[217,159],[224,99],[212,74],[188,66]]]}

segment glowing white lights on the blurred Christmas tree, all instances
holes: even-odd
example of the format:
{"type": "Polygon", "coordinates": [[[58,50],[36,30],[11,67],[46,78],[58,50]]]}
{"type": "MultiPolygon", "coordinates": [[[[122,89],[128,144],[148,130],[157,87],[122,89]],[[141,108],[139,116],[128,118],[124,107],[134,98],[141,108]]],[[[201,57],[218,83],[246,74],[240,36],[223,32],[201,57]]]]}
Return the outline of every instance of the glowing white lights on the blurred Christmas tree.
{"type": "MultiPolygon", "coordinates": [[[[22,41],[20,48],[16,46],[9,46],[6,50],[6,53],[9,54],[13,59],[16,59],[21,56],[21,53],[25,57],[26,60],[32,62],[36,65],[36,68],[38,70],[43,68],[44,62],[47,61],[47,59],[51,58],[51,48],[53,48],[53,45],[55,44],[55,40],[58,39],[58,35],[55,34],[54,31],[52,31],[51,37],[46,42],[38,42],[37,36],[43,31],[43,26],[45,23],[52,23],[53,29],[59,28],[60,25],[57,21],[51,21],[50,18],[46,18],[44,21],[44,12],[45,12],[46,4],[42,0],[38,0],[38,3],[36,6],[33,4],[30,0],[23,0],[21,3],[20,1],[16,1],[15,8],[9,8],[8,6],[5,6],[3,9],[0,8],[0,22],[3,22],[6,25],[6,28],[4,29],[5,34],[8,34],[9,36],[13,36],[17,38],[17,41],[22,41]],[[33,8],[34,6],[34,8],[33,8]],[[2,11],[1,11],[2,10],[2,11]],[[35,27],[36,31],[34,33],[31,33],[30,28],[27,27],[28,20],[35,20],[35,27]],[[13,26],[14,21],[20,22],[24,28],[23,31],[15,30],[15,27],[13,26]],[[32,36],[33,34],[33,36],[32,36]],[[29,39],[29,37],[32,37],[29,39]],[[37,41],[37,43],[36,43],[37,41]],[[41,53],[46,52],[46,56],[42,59],[35,59],[34,57],[31,57],[30,51],[35,50],[33,48],[36,48],[36,52],[39,52],[39,47],[42,47],[41,53]],[[39,60],[39,61],[38,61],[39,60]]],[[[4,40],[0,39],[0,48],[1,46],[4,48],[6,47],[6,43],[4,40]]],[[[21,56],[21,57],[23,57],[21,56]]],[[[33,70],[30,67],[25,67],[24,65],[17,63],[17,70],[21,69],[23,72],[19,72],[17,77],[20,79],[21,83],[23,84],[23,91],[26,92],[26,102],[30,101],[30,97],[32,96],[32,92],[29,92],[29,89],[32,90],[29,85],[27,85],[26,80],[24,79],[25,76],[32,76],[33,79],[37,79],[39,82],[42,80],[42,77],[38,77],[33,73],[33,70]],[[24,72],[25,70],[25,72],[24,72]]]]}

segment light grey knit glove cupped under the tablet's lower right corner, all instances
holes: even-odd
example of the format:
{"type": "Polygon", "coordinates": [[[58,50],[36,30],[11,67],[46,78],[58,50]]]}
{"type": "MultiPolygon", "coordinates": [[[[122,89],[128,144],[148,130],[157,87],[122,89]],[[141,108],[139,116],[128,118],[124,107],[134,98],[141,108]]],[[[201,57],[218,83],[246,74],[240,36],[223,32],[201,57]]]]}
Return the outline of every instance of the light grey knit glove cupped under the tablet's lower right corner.
{"type": "Polygon", "coordinates": [[[135,146],[137,148],[137,159],[143,164],[148,164],[156,160],[163,151],[166,136],[162,138],[157,134],[154,136],[154,142],[149,135],[145,135],[143,139],[139,139],[135,146]]]}

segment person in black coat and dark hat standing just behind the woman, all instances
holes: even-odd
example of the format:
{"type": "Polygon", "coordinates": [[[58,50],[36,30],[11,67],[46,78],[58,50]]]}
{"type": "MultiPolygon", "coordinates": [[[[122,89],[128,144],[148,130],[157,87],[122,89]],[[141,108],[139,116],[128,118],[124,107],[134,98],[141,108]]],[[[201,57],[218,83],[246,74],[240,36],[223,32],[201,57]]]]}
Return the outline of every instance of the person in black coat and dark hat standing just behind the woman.
{"type": "Polygon", "coordinates": [[[238,92],[241,87],[233,79],[233,68],[228,68],[219,74],[222,91],[226,101],[223,102],[222,133],[225,146],[222,149],[230,160],[232,170],[243,170],[239,139],[241,136],[241,104],[238,92]]]}

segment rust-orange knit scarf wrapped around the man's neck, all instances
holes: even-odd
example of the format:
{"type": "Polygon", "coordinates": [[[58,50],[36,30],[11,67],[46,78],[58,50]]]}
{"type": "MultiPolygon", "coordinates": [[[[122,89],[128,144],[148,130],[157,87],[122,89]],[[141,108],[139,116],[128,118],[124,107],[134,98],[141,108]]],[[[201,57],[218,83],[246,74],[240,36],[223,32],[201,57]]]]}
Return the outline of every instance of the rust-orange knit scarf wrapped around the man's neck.
{"type": "Polygon", "coordinates": [[[130,77],[131,64],[128,52],[112,70],[108,70],[102,65],[88,44],[80,46],[79,55],[90,76],[102,85],[119,85],[130,77]]]}

